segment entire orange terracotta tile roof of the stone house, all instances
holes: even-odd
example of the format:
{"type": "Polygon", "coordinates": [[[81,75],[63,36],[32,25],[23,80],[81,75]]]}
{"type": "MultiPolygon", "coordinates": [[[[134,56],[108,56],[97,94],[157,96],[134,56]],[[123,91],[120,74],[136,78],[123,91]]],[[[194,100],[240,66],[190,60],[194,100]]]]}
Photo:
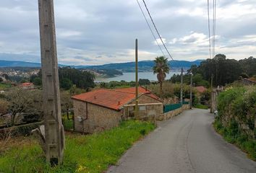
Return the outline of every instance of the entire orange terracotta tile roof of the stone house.
{"type": "MultiPolygon", "coordinates": [[[[139,88],[139,94],[146,94],[153,99],[159,100],[157,96],[142,87],[139,88]]],[[[121,110],[123,105],[131,102],[135,97],[135,87],[132,87],[125,89],[96,89],[91,92],[74,95],[72,99],[90,102],[113,110],[121,110]]]]}

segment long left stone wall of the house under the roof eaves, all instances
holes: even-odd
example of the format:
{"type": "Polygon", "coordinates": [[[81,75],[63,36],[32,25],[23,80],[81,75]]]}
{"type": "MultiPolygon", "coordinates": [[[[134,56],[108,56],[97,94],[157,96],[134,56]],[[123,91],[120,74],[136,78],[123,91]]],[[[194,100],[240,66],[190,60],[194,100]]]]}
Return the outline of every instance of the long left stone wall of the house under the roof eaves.
{"type": "Polygon", "coordinates": [[[74,99],[74,130],[95,133],[114,128],[121,121],[122,111],[82,102],[74,99]]]}

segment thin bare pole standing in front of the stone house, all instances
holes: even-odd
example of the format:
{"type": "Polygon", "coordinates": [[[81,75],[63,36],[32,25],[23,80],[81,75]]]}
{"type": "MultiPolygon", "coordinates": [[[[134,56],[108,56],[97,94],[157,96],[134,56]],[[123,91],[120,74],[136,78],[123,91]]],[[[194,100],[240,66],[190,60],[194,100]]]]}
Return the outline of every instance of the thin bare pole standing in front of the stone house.
{"type": "Polygon", "coordinates": [[[139,118],[138,107],[138,40],[135,40],[135,83],[136,83],[136,101],[135,101],[135,117],[139,118]]]}

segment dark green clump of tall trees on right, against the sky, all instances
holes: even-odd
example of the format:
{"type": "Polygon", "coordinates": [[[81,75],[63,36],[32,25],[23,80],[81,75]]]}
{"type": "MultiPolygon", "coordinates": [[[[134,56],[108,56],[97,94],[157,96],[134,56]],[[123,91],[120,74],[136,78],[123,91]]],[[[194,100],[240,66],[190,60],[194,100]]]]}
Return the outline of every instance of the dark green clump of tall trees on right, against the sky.
{"type": "MultiPolygon", "coordinates": [[[[236,61],[234,59],[226,59],[223,54],[216,55],[213,59],[207,59],[200,63],[200,66],[191,66],[189,72],[200,74],[202,86],[209,86],[211,77],[213,76],[213,86],[224,86],[232,83],[242,77],[251,77],[256,74],[256,58],[249,57],[243,60],[236,61]]],[[[178,81],[177,77],[172,81],[178,81]]],[[[186,78],[186,77],[185,77],[186,78]]]]}

